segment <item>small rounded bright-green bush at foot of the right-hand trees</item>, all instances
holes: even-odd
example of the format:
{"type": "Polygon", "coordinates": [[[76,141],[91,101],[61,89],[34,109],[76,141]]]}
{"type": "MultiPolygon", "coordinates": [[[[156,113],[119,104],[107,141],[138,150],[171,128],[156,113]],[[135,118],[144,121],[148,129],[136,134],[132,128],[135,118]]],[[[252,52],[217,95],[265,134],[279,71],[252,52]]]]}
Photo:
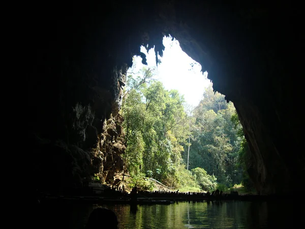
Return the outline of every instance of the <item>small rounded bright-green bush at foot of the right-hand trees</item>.
{"type": "Polygon", "coordinates": [[[203,168],[193,168],[192,174],[196,178],[198,184],[200,185],[201,189],[206,191],[213,191],[217,187],[217,178],[212,175],[208,175],[203,168]]]}

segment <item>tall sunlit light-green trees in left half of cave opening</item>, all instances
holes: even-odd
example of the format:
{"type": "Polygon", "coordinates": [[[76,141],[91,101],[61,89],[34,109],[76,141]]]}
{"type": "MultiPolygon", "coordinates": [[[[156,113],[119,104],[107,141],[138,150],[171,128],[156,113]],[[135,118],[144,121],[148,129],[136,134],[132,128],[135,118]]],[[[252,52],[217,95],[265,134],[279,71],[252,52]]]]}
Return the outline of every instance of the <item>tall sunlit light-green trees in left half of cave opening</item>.
{"type": "Polygon", "coordinates": [[[132,176],[165,180],[181,163],[181,151],[187,138],[184,98],[176,90],[167,91],[160,81],[143,69],[142,78],[129,78],[121,113],[127,140],[127,168],[132,176]],[[149,171],[149,173],[147,173],[149,171]]]}

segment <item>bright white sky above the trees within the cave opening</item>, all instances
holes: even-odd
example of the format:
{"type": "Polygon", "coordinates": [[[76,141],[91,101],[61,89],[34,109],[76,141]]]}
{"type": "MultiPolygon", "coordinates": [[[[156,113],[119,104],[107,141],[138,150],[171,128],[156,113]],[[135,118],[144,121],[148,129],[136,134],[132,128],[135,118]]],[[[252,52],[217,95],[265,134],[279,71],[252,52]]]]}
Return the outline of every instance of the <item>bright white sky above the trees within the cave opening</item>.
{"type": "MultiPolygon", "coordinates": [[[[176,89],[184,95],[186,102],[195,107],[202,98],[204,89],[211,83],[207,79],[207,72],[201,72],[201,65],[195,62],[180,48],[179,42],[171,37],[164,37],[165,50],[160,58],[161,64],[156,66],[155,50],[150,49],[147,53],[145,47],[141,52],[146,54],[147,66],[156,69],[155,79],[160,80],[166,90],[176,89]]],[[[133,66],[129,73],[138,72],[145,65],[141,63],[140,56],[135,56],[133,66]]]]}

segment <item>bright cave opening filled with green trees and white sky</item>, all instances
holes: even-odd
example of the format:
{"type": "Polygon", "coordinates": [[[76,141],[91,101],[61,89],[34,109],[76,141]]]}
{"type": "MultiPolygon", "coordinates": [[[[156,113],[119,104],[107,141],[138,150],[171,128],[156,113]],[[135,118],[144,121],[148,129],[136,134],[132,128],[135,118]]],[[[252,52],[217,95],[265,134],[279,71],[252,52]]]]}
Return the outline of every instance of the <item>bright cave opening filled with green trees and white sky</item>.
{"type": "Polygon", "coordinates": [[[163,45],[162,56],[141,46],[146,63],[134,56],[127,72],[124,175],[180,191],[240,188],[244,137],[233,103],[214,92],[175,38],[164,37],[163,45]]]}

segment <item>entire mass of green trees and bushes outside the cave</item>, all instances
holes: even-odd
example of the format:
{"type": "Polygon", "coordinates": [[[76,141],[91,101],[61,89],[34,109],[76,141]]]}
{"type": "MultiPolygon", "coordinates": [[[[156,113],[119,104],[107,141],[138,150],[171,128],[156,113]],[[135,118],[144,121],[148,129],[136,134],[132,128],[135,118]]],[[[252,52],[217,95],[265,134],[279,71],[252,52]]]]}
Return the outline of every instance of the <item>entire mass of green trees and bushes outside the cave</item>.
{"type": "Polygon", "coordinates": [[[165,90],[153,79],[152,69],[144,68],[141,74],[127,77],[120,110],[131,185],[146,187],[139,178],[144,173],[176,188],[224,190],[241,181],[247,186],[247,142],[234,105],[210,85],[187,115],[184,97],[177,90],[165,90]],[[189,135],[192,171],[185,168],[189,135]]]}

